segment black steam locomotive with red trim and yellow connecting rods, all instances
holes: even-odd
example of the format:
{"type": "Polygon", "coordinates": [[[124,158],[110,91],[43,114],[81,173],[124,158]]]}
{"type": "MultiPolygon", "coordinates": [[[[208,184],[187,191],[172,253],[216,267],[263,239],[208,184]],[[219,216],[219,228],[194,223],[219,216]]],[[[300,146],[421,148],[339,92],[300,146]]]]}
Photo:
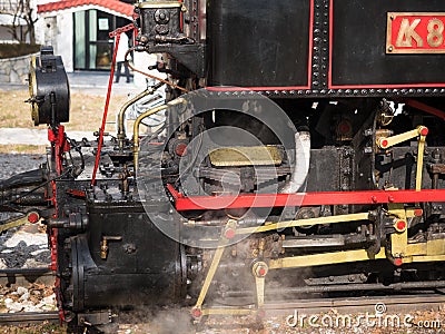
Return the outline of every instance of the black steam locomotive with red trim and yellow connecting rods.
{"type": "Polygon", "coordinates": [[[130,51],[162,55],[147,67],[168,79],[96,141],[65,132],[69,84],[43,48],[30,102],[48,163],[2,181],[1,207],[47,225],[60,317],[445,287],[441,4],[138,2],[130,51]]]}

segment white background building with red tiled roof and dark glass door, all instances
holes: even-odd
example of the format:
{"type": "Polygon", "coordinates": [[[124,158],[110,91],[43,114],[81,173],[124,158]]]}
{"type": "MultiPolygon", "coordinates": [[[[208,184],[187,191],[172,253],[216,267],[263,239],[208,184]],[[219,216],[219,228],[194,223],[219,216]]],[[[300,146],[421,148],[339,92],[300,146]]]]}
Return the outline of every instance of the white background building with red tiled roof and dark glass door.
{"type": "Polygon", "coordinates": [[[51,45],[55,53],[62,56],[67,71],[110,69],[113,40],[108,33],[131,22],[134,1],[38,2],[37,42],[51,45]]]}

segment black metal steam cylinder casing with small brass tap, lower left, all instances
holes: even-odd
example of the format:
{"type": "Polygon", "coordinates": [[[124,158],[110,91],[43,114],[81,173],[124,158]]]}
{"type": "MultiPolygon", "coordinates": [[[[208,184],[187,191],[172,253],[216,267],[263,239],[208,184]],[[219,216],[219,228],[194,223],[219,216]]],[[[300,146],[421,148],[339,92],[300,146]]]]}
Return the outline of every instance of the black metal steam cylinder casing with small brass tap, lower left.
{"type": "Polygon", "coordinates": [[[140,203],[95,204],[89,213],[88,236],[77,237],[72,248],[75,307],[160,305],[185,297],[180,245],[148,219],[140,203]],[[109,243],[107,259],[100,257],[103,236],[121,237],[109,243]]]}

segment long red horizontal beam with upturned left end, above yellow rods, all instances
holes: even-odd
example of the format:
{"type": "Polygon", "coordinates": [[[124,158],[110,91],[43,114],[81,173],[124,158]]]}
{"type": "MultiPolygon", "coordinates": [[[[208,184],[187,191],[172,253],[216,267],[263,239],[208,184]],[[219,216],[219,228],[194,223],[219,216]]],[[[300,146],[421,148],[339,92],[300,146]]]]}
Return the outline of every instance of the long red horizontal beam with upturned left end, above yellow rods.
{"type": "Polygon", "coordinates": [[[184,196],[174,186],[167,189],[175,200],[178,212],[248,208],[248,207],[284,207],[317,206],[342,204],[387,204],[387,203],[425,203],[445,202],[445,189],[424,190],[362,190],[362,191],[319,191],[298,194],[245,194],[238,196],[184,196]],[[229,205],[222,206],[221,203],[229,205]]]}

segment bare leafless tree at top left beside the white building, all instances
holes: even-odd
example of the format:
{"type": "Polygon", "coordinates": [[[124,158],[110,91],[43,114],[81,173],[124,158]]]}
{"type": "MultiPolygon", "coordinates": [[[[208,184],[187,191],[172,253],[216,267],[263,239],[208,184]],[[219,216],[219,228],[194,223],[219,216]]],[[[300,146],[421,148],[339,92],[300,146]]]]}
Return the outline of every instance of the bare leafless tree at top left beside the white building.
{"type": "Polygon", "coordinates": [[[9,0],[11,14],[13,16],[12,26],[9,29],[12,38],[19,42],[26,42],[27,36],[29,36],[29,42],[31,45],[36,43],[36,22],[38,20],[34,17],[34,9],[32,8],[32,0],[9,0]],[[27,28],[24,31],[20,28],[20,19],[23,19],[27,22],[27,28]]]}

